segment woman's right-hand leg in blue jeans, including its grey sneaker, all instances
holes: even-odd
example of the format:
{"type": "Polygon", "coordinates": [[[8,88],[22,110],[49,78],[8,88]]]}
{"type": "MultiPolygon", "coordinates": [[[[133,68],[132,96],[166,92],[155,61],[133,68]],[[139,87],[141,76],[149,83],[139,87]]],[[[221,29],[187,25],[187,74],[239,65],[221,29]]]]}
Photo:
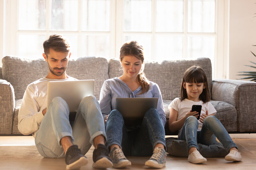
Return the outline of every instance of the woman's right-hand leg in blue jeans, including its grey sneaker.
{"type": "Polygon", "coordinates": [[[134,156],[149,156],[153,152],[145,165],[162,168],[166,162],[165,149],[164,125],[157,110],[151,108],[144,115],[140,130],[134,140],[132,153],[134,156]]]}

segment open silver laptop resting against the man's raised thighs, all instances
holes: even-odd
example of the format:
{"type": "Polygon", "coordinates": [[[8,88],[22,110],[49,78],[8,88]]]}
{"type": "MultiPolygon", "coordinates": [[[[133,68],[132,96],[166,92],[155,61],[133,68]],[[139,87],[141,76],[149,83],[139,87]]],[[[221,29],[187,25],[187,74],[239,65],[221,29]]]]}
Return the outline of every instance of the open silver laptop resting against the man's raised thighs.
{"type": "Polygon", "coordinates": [[[47,88],[47,109],[52,99],[61,97],[69,107],[69,112],[76,112],[82,99],[94,93],[94,80],[50,81],[47,88]]]}

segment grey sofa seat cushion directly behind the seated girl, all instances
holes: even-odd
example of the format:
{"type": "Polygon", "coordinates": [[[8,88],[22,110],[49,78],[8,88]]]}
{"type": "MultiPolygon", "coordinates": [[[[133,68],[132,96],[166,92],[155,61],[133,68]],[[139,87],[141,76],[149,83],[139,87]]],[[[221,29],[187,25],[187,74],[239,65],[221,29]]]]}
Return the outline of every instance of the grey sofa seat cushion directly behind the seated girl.
{"type": "MultiPolygon", "coordinates": [[[[172,100],[163,100],[164,111],[166,114],[166,124],[164,127],[166,135],[173,134],[170,132],[168,127],[169,117],[170,117],[170,110],[168,109],[168,106],[170,105],[171,102],[172,100]]],[[[211,100],[210,103],[217,111],[215,117],[220,120],[220,122],[227,129],[227,131],[228,132],[237,131],[237,123],[236,123],[237,112],[236,112],[235,106],[224,101],[211,100]]]]}

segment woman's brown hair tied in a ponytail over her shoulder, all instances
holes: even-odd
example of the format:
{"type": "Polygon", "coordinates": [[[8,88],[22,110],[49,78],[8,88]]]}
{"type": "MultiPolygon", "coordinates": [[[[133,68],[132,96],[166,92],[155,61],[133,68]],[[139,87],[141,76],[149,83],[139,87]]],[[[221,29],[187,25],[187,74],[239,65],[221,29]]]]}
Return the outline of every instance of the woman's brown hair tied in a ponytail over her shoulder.
{"type": "Polygon", "coordinates": [[[144,92],[147,92],[149,89],[149,81],[146,78],[144,70],[144,54],[143,54],[143,47],[137,42],[137,41],[130,41],[124,43],[124,45],[120,49],[120,61],[122,62],[124,56],[132,55],[138,59],[141,60],[142,66],[139,72],[139,75],[137,76],[137,81],[142,87],[142,92],[140,94],[143,94],[144,92]]]}

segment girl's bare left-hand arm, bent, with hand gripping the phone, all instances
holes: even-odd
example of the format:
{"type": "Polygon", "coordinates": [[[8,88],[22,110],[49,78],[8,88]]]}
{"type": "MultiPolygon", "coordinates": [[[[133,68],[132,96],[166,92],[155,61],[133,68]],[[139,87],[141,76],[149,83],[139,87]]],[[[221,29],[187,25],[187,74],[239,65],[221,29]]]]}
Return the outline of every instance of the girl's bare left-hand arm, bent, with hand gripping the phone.
{"type": "Polygon", "coordinates": [[[199,115],[198,115],[198,112],[196,112],[196,111],[191,112],[191,110],[190,110],[189,112],[186,113],[186,115],[184,117],[182,117],[180,120],[177,121],[178,111],[171,107],[170,108],[170,117],[169,117],[170,131],[175,132],[175,131],[181,129],[188,116],[195,116],[197,118],[199,115]]]}

